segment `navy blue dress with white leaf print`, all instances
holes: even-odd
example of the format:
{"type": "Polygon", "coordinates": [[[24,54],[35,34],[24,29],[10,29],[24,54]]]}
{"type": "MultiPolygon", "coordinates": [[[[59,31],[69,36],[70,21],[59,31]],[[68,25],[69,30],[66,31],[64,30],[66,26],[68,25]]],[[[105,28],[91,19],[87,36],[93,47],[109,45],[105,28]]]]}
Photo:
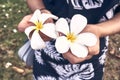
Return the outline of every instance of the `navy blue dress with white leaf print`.
{"type": "MultiPolygon", "coordinates": [[[[71,19],[82,14],[88,24],[96,24],[113,17],[119,0],[43,0],[46,8],[58,17],[71,19]]],[[[33,62],[34,80],[102,80],[107,38],[100,39],[100,53],[90,60],[71,64],[55,49],[55,40],[35,51],[33,62]]],[[[62,45],[62,44],[61,44],[62,45]]]]}

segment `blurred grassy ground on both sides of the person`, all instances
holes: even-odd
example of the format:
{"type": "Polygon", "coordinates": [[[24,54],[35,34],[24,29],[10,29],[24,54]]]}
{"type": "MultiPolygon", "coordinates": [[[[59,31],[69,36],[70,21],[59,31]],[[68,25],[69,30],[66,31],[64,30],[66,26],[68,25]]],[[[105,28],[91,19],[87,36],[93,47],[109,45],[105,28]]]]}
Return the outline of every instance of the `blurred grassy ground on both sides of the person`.
{"type": "MultiPolygon", "coordinates": [[[[32,69],[17,54],[26,39],[17,25],[29,13],[25,0],[0,0],[0,80],[32,80],[32,69]]],[[[120,80],[120,35],[112,35],[109,43],[104,80],[120,80]]]]}

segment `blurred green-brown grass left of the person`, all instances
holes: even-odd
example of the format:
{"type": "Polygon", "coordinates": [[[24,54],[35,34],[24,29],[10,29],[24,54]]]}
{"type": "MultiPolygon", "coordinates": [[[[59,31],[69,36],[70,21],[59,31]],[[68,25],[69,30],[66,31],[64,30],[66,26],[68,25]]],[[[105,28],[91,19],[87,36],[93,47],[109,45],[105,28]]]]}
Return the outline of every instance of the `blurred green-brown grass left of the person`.
{"type": "Polygon", "coordinates": [[[0,0],[0,80],[32,80],[31,70],[21,74],[12,67],[5,68],[5,64],[10,62],[13,66],[26,69],[17,55],[26,36],[17,31],[17,25],[28,13],[24,0],[0,0]]]}

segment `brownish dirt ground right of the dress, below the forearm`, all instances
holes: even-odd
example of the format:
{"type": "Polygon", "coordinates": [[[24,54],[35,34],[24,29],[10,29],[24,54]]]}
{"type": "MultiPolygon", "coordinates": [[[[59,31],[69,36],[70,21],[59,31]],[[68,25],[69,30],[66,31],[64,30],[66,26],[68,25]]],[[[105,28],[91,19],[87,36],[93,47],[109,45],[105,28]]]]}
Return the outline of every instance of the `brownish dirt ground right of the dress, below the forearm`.
{"type": "Polygon", "coordinates": [[[104,80],[120,80],[120,34],[110,37],[104,80]]]}

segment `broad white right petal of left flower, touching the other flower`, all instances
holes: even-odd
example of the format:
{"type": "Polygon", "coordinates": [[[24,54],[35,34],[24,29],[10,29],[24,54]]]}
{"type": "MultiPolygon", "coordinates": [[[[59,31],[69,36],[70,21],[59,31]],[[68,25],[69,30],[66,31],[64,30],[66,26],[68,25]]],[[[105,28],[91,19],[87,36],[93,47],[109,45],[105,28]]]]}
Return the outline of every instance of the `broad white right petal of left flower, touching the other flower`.
{"type": "Polygon", "coordinates": [[[53,23],[44,24],[40,31],[51,38],[57,38],[55,25],[53,23]]]}

